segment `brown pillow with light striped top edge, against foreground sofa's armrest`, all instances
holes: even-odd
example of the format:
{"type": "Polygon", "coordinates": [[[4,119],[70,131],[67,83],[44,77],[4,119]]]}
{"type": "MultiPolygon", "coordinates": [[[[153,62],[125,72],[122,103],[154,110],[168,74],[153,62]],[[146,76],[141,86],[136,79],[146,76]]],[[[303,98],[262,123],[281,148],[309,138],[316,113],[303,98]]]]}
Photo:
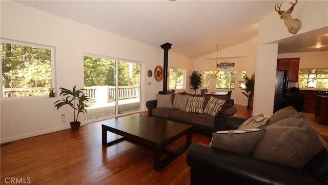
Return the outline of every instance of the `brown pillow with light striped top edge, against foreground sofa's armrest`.
{"type": "Polygon", "coordinates": [[[210,145],[239,154],[251,155],[264,133],[265,129],[218,131],[212,134],[210,145]]]}

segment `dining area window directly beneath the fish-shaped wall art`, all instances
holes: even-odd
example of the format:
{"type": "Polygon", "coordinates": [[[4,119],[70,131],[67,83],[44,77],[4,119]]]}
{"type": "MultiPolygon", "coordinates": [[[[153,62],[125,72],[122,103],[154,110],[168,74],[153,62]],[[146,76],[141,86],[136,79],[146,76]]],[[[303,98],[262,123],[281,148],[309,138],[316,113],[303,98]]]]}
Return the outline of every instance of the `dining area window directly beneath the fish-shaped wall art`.
{"type": "Polygon", "coordinates": [[[219,71],[216,89],[235,89],[236,71],[219,71]]]}

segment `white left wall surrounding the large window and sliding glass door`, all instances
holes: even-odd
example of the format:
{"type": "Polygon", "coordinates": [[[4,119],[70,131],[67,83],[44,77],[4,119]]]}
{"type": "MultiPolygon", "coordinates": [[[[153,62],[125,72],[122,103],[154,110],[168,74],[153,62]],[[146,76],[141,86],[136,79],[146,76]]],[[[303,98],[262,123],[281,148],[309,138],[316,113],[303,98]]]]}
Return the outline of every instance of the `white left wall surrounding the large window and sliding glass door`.
{"type": "MultiPolygon", "coordinates": [[[[162,81],[156,81],[154,76],[148,77],[147,71],[154,71],[157,65],[163,66],[164,51],[160,45],[165,43],[152,47],[19,3],[0,3],[1,38],[55,48],[56,94],[59,87],[84,87],[85,52],[143,63],[142,111],[147,110],[145,102],[156,99],[156,94],[162,90],[162,81]]],[[[171,44],[169,66],[173,66],[171,63],[177,66],[189,63],[187,70],[191,73],[193,60],[175,54],[174,43],[171,44]]],[[[59,97],[1,98],[1,143],[69,128],[69,122],[73,120],[72,110],[63,107],[56,111],[53,103],[57,99],[59,97]],[[61,121],[61,114],[66,114],[66,123],[61,121]]],[[[84,115],[79,116],[79,121],[84,125],[84,115]]]]}

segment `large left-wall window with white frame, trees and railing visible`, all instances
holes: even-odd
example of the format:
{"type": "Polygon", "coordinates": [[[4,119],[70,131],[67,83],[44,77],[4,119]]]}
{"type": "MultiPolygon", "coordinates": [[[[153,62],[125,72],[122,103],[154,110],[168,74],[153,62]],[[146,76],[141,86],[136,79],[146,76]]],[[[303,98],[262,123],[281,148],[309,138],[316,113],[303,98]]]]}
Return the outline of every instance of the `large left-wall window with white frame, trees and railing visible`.
{"type": "Polygon", "coordinates": [[[48,95],[53,61],[54,48],[2,39],[2,97],[48,95]]]}

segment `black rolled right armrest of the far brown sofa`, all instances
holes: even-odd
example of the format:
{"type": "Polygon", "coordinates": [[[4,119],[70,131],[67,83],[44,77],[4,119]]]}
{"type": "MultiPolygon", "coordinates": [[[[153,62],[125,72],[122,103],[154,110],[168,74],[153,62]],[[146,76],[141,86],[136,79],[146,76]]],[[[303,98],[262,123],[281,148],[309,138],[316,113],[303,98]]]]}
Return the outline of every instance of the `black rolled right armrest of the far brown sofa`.
{"type": "Polygon", "coordinates": [[[221,111],[215,114],[215,129],[216,131],[227,130],[227,119],[237,112],[236,107],[226,106],[221,111]]]}

